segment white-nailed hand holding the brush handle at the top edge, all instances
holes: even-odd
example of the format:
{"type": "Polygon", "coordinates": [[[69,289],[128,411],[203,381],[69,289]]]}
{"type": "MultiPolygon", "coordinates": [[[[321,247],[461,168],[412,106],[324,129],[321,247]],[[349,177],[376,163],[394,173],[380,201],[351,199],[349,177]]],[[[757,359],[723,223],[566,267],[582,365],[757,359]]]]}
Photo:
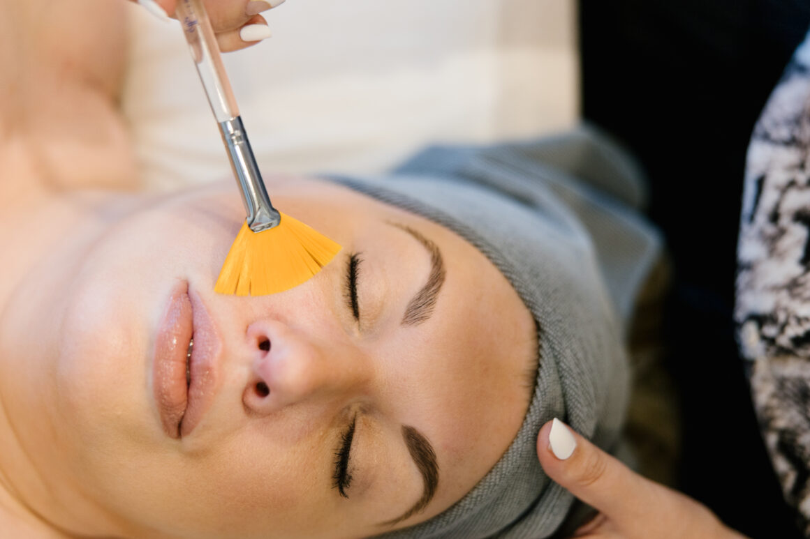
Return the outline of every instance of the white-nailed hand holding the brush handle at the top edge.
{"type": "MultiPolygon", "coordinates": [[[[160,18],[175,16],[180,0],[130,0],[160,18]]],[[[270,37],[267,21],[258,15],[279,6],[284,0],[205,0],[206,11],[211,19],[216,40],[224,53],[245,49],[270,37]]]]}

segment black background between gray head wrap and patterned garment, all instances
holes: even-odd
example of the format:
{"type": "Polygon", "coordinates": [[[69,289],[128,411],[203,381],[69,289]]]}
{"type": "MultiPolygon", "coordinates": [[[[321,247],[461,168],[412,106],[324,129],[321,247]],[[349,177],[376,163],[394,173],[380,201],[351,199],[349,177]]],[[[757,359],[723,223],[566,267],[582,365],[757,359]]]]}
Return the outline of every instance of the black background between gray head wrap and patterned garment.
{"type": "Polygon", "coordinates": [[[801,537],[765,452],[732,325],[745,151],[810,0],[580,0],[583,112],[650,176],[675,265],[666,338],[680,489],[750,537],[801,537]]]}

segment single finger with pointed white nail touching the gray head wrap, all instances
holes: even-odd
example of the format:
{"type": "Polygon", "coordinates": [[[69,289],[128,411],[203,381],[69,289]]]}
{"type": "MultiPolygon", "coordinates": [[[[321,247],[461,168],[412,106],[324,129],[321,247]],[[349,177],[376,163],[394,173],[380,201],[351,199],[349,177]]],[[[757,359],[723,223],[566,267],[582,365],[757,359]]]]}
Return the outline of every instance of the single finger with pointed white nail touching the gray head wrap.
{"type": "Polygon", "coordinates": [[[635,520],[649,505],[650,482],[558,419],[540,429],[537,454],[549,477],[609,520],[635,520]]]}

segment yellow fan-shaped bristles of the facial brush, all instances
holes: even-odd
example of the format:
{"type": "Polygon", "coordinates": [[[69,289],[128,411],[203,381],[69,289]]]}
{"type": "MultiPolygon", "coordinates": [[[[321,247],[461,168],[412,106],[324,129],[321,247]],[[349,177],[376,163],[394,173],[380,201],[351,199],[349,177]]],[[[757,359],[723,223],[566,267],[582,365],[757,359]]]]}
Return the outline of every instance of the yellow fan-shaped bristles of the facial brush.
{"type": "Polygon", "coordinates": [[[289,215],[266,231],[243,224],[220,271],[219,294],[267,295],[283,292],[317,274],[341,247],[289,215]]]}

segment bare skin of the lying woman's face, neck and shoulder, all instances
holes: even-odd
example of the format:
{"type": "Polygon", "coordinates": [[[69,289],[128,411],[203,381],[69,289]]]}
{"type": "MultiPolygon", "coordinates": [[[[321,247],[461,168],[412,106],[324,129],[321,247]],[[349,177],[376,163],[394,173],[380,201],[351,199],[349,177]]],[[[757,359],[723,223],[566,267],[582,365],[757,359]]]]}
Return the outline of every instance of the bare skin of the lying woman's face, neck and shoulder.
{"type": "Polygon", "coordinates": [[[505,451],[529,400],[535,328],[505,278],[435,223],[335,185],[267,176],[274,202],[343,252],[292,291],[215,295],[243,219],[232,180],[138,192],[117,113],[122,4],[62,4],[0,0],[0,69],[16,75],[0,95],[0,529],[361,537],[460,499],[505,451]],[[390,223],[444,260],[433,315],[419,325],[401,320],[430,256],[390,223]],[[360,320],[345,294],[351,253],[362,258],[360,320]],[[151,373],[160,320],[184,283],[221,347],[211,408],[177,439],[161,424],[151,373]],[[270,397],[257,396],[258,382],[270,397]],[[344,498],[332,476],[352,418],[344,498]],[[426,507],[391,525],[423,493],[403,425],[430,440],[440,478],[426,507]]]}

